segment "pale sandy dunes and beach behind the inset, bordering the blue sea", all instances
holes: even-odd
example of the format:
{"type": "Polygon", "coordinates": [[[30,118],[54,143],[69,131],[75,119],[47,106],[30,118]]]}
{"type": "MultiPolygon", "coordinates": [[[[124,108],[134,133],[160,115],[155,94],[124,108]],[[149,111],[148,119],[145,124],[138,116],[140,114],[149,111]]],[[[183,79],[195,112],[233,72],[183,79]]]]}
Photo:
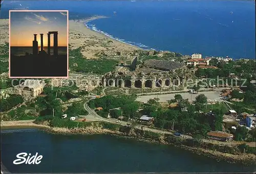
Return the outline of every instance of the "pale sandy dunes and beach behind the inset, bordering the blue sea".
{"type": "MultiPolygon", "coordinates": [[[[88,19],[69,20],[69,45],[71,49],[82,47],[82,54],[87,59],[104,55],[111,58],[129,59],[134,57],[134,51],[141,49],[127,43],[120,42],[99,32],[88,29],[84,22],[95,19],[104,20],[105,16],[94,16],[88,19]],[[98,55],[98,56],[97,56],[98,55]]],[[[1,44],[9,42],[9,19],[0,19],[1,44]]]]}

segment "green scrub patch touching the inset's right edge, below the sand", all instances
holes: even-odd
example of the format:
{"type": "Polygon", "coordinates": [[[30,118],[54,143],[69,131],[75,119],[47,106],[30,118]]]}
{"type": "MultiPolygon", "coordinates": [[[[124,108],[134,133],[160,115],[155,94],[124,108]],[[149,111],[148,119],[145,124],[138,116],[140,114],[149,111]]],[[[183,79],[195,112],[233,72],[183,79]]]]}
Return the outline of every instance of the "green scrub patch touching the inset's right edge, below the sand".
{"type": "Polygon", "coordinates": [[[76,72],[104,74],[115,69],[117,61],[112,59],[86,59],[81,54],[81,47],[69,50],[69,67],[76,72]]]}

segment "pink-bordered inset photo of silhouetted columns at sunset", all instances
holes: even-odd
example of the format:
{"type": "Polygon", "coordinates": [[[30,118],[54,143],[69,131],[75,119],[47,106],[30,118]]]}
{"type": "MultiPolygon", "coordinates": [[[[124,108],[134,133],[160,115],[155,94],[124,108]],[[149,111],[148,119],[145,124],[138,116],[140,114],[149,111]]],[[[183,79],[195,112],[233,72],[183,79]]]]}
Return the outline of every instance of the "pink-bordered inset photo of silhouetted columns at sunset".
{"type": "Polygon", "coordinates": [[[68,10],[9,11],[9,77],[68,78],[68,10]]]}

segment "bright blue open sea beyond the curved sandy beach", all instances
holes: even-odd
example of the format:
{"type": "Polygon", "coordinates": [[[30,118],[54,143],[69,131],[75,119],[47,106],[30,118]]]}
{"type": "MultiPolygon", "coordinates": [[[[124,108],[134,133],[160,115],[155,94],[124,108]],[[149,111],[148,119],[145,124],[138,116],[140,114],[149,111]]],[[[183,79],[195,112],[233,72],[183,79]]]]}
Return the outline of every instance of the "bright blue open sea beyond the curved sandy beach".
{"type": "MultiPolygon", "coordinates": [[[[3,8],[21,8],[4,2],[3,8]]],[[[105,15],[88,26],[119,40],[185,55],[255,58],[254,1],[25,1],[30,10],[105,15]],[[114,15],[116,11],[116,15],[114,15]]]]}

